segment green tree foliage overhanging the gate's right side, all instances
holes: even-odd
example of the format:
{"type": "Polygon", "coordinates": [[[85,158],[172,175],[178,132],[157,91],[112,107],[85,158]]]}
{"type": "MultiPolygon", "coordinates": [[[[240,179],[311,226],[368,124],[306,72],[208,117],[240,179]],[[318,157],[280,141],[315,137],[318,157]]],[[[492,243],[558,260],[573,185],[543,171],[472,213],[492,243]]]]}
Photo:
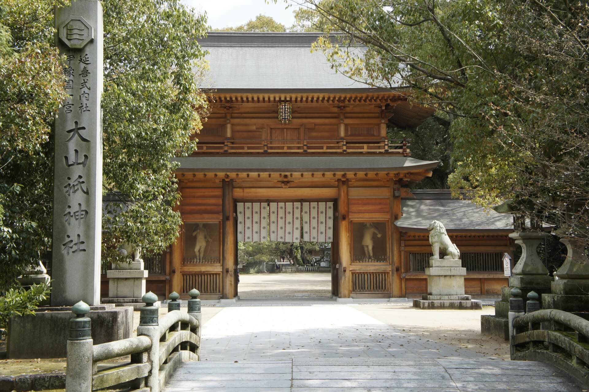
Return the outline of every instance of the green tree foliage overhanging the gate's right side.
{"type": "Polygon", "coordinates": [[[336,71],[437,109],[456,194],[515,198],[519,213],[589,237],[587,2],[302,3],[336,71]]]}

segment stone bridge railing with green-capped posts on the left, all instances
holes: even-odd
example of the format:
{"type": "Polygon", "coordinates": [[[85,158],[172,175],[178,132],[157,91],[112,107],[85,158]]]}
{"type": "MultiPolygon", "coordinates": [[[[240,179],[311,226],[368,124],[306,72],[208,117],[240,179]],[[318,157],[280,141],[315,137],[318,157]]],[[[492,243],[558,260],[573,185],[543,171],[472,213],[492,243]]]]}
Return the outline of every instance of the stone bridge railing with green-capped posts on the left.
{"type": "Polygon", "coordinates": [[[90,307],[80,301],[72,311],[70,337],[67,347],[66,392],[87,392],[127,383],[135,392],[158,392],[183,361],[198,361],[200,357],[200,300],[197,290],[191,290],[188,313],[180,312],[180,297],[170,294],[168,314],[159,318],[154,306],[157,295],[151,291],[143,296],[137,337],[92,344],[91,321],[86,317],[90,307]],[[125,364],[102,361],[131,356],[125,364]]]}

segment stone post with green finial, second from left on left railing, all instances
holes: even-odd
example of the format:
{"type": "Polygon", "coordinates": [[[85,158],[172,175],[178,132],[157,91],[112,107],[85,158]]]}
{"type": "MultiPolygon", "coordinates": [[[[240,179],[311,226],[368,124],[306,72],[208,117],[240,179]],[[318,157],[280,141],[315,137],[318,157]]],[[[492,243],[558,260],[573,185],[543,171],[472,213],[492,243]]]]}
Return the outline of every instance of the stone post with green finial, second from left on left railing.
{"type": "Polygon", "coordinates": [[[158,392],[160,388],[160,325],[159,308],[154,305],[157,302],[157,295],[150,291],[145,293],[141,300],[145,306],[141,308],[137,335],[145,335],[151,339],[151,348],[147,351],[147,361],[151,371],[145,386],[151,388],[151,392],[158,392]]]}

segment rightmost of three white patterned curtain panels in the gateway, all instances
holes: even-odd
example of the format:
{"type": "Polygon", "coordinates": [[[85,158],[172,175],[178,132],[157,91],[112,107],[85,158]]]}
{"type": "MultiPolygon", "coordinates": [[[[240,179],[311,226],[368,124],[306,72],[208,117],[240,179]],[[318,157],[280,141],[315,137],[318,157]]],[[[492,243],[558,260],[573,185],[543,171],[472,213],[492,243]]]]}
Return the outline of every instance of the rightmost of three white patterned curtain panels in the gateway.
{"type": "Polygon", "coordinates": [[[303,241],[333,241],[333,202],[302,204],[303,241]]]}

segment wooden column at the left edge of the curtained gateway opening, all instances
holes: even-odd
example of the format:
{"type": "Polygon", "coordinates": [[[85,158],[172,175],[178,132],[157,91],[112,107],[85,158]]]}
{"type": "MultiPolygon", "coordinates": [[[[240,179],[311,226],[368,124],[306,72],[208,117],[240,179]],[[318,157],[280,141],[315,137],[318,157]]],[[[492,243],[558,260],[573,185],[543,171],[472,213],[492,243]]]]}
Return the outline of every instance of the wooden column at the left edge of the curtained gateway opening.
{"type": "Polygon", "coordinates": [[[221,298],[234,298],[234,265],[235,265],[235,220],[233,212],[235,203],[233,202],[233,180],[223,181],[223,270],[221,277],[223,288],[221,289],[221,298]]]}

